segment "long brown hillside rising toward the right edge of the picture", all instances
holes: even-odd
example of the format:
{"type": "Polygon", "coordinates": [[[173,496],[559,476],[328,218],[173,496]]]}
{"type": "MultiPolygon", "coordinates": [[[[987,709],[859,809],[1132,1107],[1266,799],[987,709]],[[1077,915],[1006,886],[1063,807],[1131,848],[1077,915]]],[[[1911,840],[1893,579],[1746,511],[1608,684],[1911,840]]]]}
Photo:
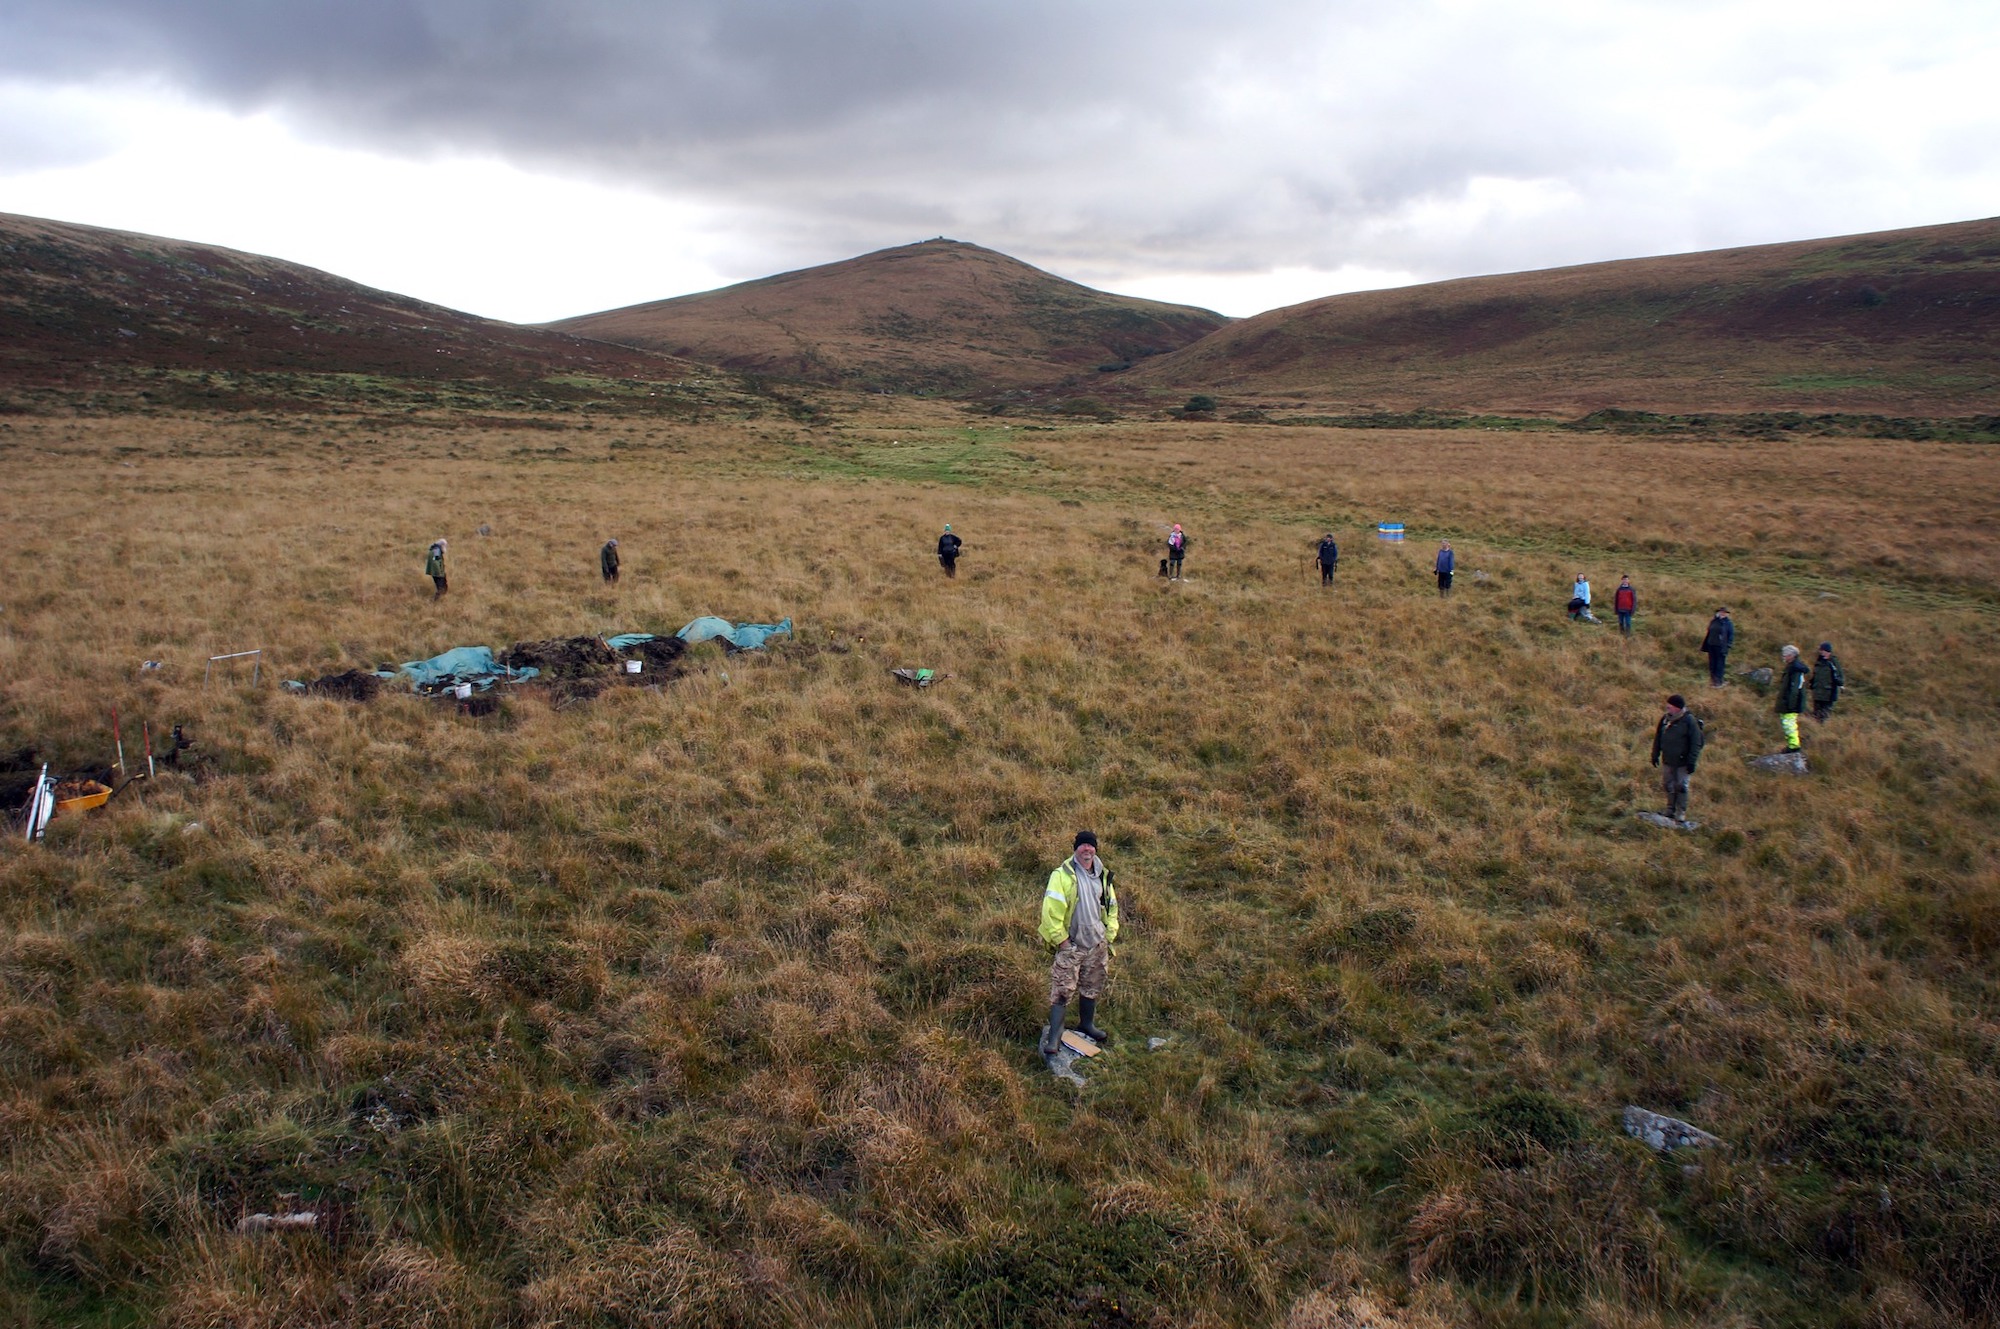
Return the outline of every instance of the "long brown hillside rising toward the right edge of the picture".
{"type": "Polygon", "coordinates": [[[1224,408],[2000,410],[2000,218],[1328,296],[1118,376],[1224,408]]]}

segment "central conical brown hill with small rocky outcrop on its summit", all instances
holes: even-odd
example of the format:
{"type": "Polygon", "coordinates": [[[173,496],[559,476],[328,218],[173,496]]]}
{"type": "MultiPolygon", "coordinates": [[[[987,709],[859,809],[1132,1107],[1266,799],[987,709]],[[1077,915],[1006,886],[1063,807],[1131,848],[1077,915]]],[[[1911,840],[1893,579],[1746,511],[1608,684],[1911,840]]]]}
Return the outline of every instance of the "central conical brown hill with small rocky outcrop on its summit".
{"type": "Polygon", "coordinates": [[[548,326],[830,386],[978,394],[1138,362],[1226,322],[938,238],[548,326]]]}

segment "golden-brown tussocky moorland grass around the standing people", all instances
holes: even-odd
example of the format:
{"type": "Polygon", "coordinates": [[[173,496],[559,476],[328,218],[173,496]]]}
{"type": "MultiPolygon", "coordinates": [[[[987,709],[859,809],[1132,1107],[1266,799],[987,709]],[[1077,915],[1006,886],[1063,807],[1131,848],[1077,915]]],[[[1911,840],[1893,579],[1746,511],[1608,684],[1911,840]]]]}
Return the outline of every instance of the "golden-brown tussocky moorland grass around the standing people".
{"type": "Polygon", "coordinates": [[[102,763],[116,705],[128,759],[212,755],[0,849],[18,1321],[1994,1319],[1986,452],[912,404],[14,418],[0,458],[0,747],[102,763]],[[1578,568],[1634,574],[1634,638],[1562,620],[1578,568]],[[1736,667],[1842,646],[1812,777],[1700,687],[1718,600],[1736,667]],[[798,636],[488,719],[272,687],[702,612],[798,636]],[[1628,817],[1668,691],[1688,837],[1628,817]],[[1128,935],[1078,1093],[1032,919],[1082,825],[1128,935]],[[1634,1101],[1732,1147],[1684,1175],[1634,1101]],[[286,1209],[326,1225],[232,1231],[286,1209]]]}

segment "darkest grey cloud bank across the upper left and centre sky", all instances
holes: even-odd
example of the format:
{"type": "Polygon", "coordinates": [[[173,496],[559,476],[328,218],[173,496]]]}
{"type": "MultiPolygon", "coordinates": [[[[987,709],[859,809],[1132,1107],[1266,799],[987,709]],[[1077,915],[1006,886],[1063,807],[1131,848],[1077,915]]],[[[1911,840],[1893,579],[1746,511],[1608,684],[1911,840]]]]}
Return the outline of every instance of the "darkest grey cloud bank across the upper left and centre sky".
{"type": "Polygon", "coordinates": [[[672,164],[890,126],[944,138],[1010,110],[1126,96],[1220,40],[1212,6],[700,0],[26,0],[24,74],[164,74],[232,106],[370,136],[672,164]]]}

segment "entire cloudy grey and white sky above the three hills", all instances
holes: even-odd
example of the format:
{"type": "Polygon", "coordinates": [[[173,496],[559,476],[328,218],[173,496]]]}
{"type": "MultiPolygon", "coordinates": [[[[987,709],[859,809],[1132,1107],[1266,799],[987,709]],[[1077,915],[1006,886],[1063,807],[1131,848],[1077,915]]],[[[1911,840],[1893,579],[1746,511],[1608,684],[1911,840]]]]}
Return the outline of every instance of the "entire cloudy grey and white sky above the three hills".
{"type": "Polygon", "coordinates": [[[952,236],[1252,314],[2000,214],[1996,0],[6,0],[0,212],[512,320],[952,236]]]}

